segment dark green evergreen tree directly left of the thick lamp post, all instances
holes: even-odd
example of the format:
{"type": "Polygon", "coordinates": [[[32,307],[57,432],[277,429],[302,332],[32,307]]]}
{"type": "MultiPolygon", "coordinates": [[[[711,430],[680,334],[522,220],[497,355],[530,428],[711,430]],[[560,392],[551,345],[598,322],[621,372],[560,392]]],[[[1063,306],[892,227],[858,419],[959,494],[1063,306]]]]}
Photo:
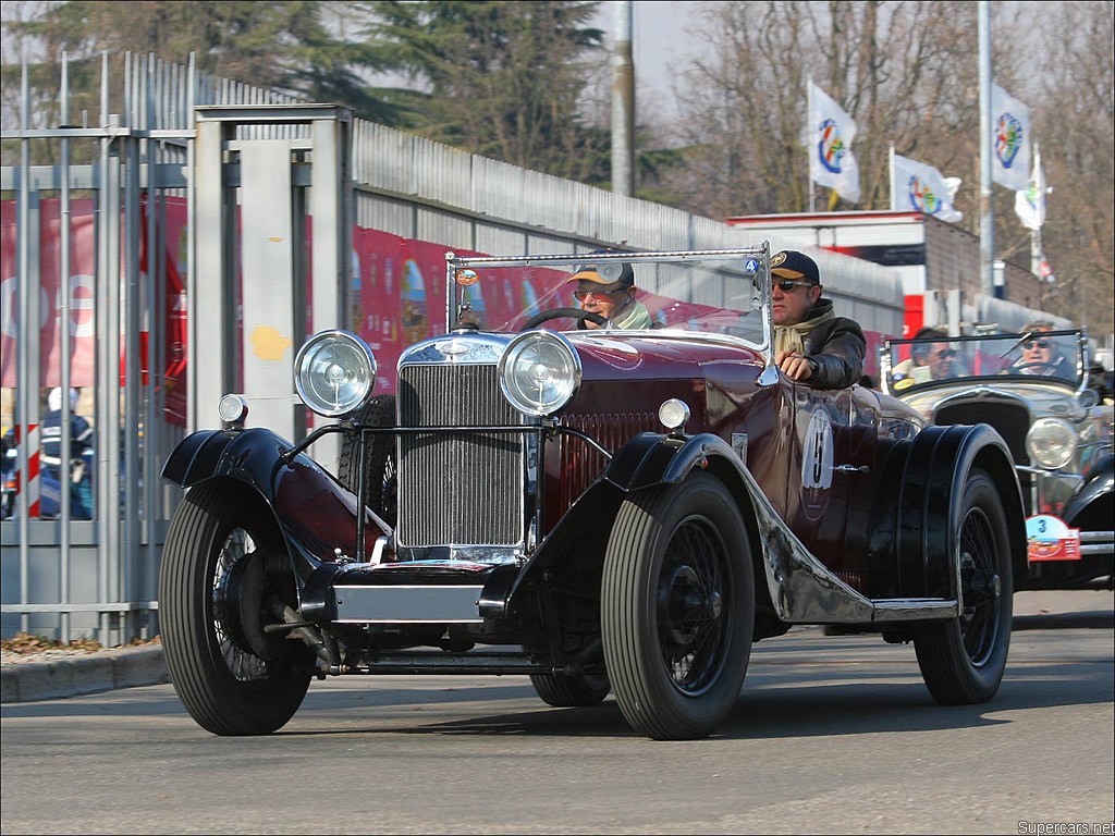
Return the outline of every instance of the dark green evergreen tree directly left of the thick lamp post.
{"type": "Polygon", "coordinates": [[[357,3],[366,46],[424,93],[414,128],[449,145],[583,182],[609,176],[607,130],[586,110],[607,72],[598,3],[357,3]],[[598,51],[599,50],[599,51],[598,51]]]}

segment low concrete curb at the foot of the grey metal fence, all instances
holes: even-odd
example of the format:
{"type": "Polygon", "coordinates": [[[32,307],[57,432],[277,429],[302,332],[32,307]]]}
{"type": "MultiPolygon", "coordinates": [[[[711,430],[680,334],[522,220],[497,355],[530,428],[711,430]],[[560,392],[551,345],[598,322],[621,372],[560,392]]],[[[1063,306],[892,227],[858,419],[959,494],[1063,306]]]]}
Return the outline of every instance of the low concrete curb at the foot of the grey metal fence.
{"type": "Polygon", "coordinates": [[[55,662],[6,664],[0,703],[36,702],[169,682],[163,649],[123,648],[55,662]]]}

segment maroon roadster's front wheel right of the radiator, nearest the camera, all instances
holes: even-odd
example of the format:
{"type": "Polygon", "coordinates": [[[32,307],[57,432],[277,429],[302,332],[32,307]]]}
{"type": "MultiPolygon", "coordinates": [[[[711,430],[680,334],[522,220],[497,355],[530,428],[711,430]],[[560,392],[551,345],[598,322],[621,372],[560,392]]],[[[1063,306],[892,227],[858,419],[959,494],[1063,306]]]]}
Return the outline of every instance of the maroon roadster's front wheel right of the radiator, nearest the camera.
{"type": "Polygon", "coordinates": [[[708,474],[623,500],[600,601],[620,710],[657,740],[705,737],[730,713],[750,657],[755,582],[747,531],[708,474]]]}

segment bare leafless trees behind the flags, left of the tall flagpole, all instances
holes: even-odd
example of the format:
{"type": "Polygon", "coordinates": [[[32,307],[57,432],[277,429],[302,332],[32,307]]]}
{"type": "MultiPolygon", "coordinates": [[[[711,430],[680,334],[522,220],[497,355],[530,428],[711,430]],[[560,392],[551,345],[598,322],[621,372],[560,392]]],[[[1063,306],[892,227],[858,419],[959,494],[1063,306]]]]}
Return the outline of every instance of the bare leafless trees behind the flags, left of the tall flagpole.
{"type": "Polygon", "coordinates": [[[889,206],[891,144],[946,171],[967,165],[970,152],[942,139],[976,129],[975,67],[962,71],[976,48],[971,3],[765,0],[700,14],[692,36],[707,49],[679,79],[694,207],[806,207],[808,76],[859,125],[860,206],[889,206]]]}

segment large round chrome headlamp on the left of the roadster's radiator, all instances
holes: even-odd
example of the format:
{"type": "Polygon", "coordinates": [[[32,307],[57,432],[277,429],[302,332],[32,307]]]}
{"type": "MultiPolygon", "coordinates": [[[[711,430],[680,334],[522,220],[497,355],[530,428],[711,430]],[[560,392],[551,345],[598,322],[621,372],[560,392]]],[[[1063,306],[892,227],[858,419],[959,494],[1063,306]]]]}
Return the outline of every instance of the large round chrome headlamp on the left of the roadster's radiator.
{"type": "Polygon", "coordinates": [[[368,343],[348,331],[320,331],[294,358],[298,397],[327,418],[355,412],[375,387],[376,357],[368,343]]]}

